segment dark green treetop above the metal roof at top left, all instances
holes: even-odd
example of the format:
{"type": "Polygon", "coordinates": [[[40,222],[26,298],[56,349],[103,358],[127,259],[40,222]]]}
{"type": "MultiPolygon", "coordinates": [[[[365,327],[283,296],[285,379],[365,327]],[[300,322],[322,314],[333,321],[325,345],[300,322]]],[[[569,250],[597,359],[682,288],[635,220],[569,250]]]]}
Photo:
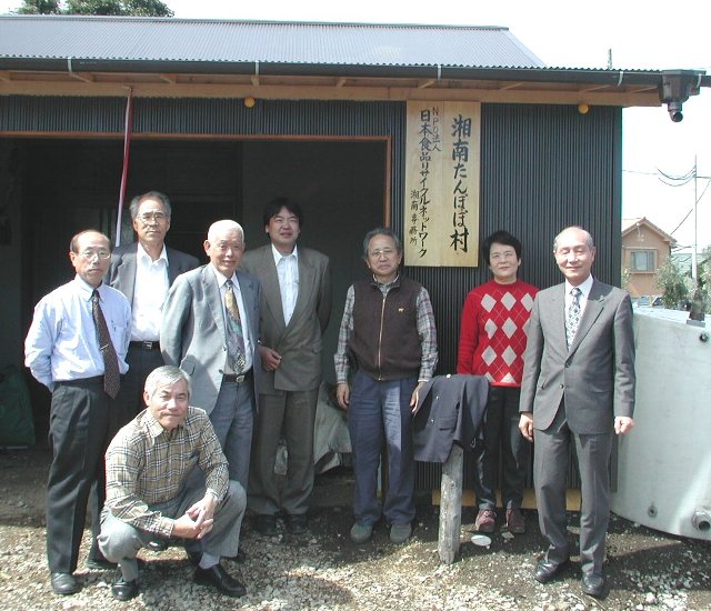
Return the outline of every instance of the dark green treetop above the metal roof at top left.
{"type": "Polygon", "coordinates": [[[22,0],[19,14],[104,14],[133,17],[172,17],[161,0],[22,0]]]}

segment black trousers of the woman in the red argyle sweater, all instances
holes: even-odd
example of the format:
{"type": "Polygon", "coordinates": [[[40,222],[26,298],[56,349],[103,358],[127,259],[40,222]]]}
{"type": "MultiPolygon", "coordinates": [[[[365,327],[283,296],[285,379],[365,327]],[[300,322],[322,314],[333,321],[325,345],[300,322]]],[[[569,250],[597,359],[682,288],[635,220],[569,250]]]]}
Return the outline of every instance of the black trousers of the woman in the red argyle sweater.
{"type": "Polygon", "coordinates": [[[505,509],[520,508],[523,485],[531,457],[531,444],[519,430],[519,399],[517,387],[489,387],[483,423],[484,442],[475,461],[474,490],[479,509],[497,508],[499,453],[503,462],[501,501],[505,509]]]}

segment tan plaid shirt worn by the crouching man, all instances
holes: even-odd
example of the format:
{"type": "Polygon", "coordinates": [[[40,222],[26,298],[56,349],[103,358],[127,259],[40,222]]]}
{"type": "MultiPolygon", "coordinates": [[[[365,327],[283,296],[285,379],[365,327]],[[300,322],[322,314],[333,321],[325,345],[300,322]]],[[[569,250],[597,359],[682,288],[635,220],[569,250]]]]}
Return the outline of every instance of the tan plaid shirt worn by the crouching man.
{"type": "Polygon", "coordinates": [[[188,408],[172,431],[143,410],[123,427],[107,450],[106,507],[132,527],[170,537],[173,519],[151,505],[174,499],[196,464],[218,502],[229,485],[228,462],[206,412],[188,408]]]}

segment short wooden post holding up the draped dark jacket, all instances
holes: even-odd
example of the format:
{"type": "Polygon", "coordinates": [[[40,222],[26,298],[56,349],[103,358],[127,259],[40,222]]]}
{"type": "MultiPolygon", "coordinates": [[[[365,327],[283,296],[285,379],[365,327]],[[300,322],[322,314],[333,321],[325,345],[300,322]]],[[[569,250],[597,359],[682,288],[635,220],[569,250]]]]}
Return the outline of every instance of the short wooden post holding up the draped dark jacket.
{"type": "Polygon", "coordinates": [[[459,552],[460,531],[462,527],[462,472],[464,452],[460,445],[452,443],[447,462],[442,465],[442,483],[440,487],[440,532],[438,550],[440,560],[445,564],[454,562],[459,552]]]}

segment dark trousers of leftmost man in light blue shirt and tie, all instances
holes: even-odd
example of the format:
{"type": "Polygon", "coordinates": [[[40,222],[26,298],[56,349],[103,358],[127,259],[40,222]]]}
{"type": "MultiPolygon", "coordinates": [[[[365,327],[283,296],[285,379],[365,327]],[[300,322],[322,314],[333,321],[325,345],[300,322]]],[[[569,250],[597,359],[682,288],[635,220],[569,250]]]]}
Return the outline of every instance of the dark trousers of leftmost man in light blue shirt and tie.
{"type": "Polygon", "coordinates": [[[58,382],[52,392],[47,482],[47,559],[50,572],[77,569],[91,492],[91,529],[99,533],[106,498],[103,454],[117,429],[103,377],[58,382]]]}

